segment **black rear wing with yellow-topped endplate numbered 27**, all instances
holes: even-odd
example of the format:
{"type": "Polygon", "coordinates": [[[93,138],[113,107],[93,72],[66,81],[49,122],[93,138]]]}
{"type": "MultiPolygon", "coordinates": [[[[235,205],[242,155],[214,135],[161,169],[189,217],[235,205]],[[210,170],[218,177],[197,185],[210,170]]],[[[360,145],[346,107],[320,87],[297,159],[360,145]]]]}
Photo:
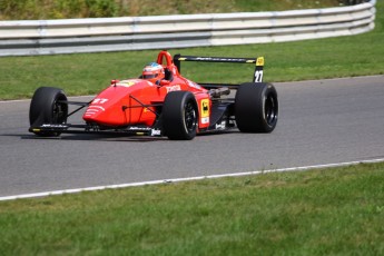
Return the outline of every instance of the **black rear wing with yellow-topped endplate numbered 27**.
{"type": "MultiPolygon", "coordinates": [[[[228,58],[228,57],[198,57],[198,56],[174,56],[174,63],[179,72],[181,72],[181,61],[200,61],[200,62],[227,62],[227,63],[253,63],[255,72],[252,78],[253,82],[263,82],[264,57],[258,58],[228,58]]],[[[204,83],[200,83],[204,86],[204,83]]],[[[211,85],[211,83],[209,83],[211,85]]],[[[214,86],[214,85],[211,85],[214,86]]],[[[236,86],[236,85],[234,85],[236,86]]]]}

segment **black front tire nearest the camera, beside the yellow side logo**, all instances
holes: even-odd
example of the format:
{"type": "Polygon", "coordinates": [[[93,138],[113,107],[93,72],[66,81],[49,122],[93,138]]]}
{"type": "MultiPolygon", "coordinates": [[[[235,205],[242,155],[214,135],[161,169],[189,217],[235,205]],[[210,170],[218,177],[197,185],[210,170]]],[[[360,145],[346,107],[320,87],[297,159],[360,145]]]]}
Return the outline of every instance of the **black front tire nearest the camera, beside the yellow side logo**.
{"type": "Polygon", "coordinates": [[[171,91],[164,101],[163,126],[169,139],[190,140],[198,126],[198,108],[189,91],[171,91]]]}

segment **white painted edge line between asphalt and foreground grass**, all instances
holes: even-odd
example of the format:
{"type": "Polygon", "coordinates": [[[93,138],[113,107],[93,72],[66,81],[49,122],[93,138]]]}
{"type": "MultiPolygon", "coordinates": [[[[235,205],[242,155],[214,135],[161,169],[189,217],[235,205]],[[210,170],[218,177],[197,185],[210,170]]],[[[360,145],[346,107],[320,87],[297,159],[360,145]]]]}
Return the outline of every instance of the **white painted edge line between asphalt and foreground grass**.
{"type": "Polygon", "coordinates": [[[240,176],[260,175],[260,174],[268,174],[268,173],[302,171],[302,170],[321,169],[321,168],[353,166],[353,165],[360,165],[360,164],[375,164],[375,163],[383,163],[383,161],[384,161],[384,158],[377,158],[377,159],[371,159],[371,160],[346,161],[346,163],[337,163],[337,164],[289,167],[289,168],[280,168],[280,169],[255,170],[255,171],[221,174],[221,175],[196,176],[196,177],[188,177],[188,178],[161,179],[161,180],[129,183],[129,184],[119,184],[119,185],[107,185],[107,186],[97,186],[97,187],[87,187],[87,188],[73,188],[73,189],[65,189],[65,190],[23,194],[23,195],[16,195],[16,196],[4,196],[4,197],[0,197],[0,201],[26,199],[26,198],[37,198],[37,197],[48,197],[48,196],[65,195],[65,194],[77,194],[77,193],[82,193],[82,191],[96,191],[96,190],[105,190],[105,189],[139,187],[139,186],[147,186],[147,185],[193,181],[193,180],[201,180],[201,179],[240,177],[240,176]]]}

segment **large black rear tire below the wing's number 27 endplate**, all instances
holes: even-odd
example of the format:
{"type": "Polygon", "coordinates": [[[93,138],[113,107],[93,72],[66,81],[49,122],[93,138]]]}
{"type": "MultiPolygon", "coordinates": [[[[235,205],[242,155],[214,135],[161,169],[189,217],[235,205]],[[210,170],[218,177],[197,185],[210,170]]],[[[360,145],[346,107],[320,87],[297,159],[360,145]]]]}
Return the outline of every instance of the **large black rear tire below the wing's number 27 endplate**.
{"type": "Polygon", "coordinates": [[[235,98],[237,128],[243,132],[272,132],[277,124],[277,91],[270,83],[240,85],[235,98]]]}

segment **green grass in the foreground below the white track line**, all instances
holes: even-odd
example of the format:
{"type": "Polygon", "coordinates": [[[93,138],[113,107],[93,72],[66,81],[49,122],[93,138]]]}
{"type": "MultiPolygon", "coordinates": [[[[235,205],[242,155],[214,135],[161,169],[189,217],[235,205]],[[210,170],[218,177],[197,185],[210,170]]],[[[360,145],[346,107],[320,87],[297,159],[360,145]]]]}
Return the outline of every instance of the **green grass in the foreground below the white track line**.
{"type": "Polygon", "coordinates": [[[384,164],[0,203],[2,255],[383,255],[384,164]]]}

